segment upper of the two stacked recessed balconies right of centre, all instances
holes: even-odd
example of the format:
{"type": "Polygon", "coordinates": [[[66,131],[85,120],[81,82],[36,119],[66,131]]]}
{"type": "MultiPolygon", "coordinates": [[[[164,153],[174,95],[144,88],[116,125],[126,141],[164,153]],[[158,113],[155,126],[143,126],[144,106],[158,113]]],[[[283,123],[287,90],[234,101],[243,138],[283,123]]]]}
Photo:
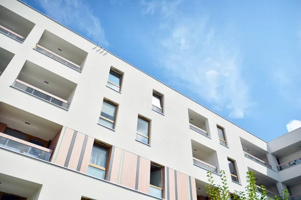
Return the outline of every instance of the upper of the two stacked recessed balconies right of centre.
{"type": "Polygon", "coordinates": [[[188,117],[189,117],[189,128],[203,134],[207,137],[210,137],[208,127],[208,119],[204,116],[198,114],[197,112],[188,109],[188,117]]]}

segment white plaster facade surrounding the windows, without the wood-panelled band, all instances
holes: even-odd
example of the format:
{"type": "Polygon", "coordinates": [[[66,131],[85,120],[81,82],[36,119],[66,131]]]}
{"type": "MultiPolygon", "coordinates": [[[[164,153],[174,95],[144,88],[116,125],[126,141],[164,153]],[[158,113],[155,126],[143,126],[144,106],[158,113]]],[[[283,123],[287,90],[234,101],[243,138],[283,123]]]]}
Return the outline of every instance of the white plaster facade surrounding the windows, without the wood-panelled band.
{"type": "MultiPolygon", "coordinates": [[[[195,188],[198,196],[208,196],[207,170],[194,165],[193,157],[217,171],[225,170],[232,192],[244,190],[246,172],[252,170],[258,184],[275,194],[285,188],[291,195],[301,193],[301,128],[265,142],[26,4],[18,0],[0,0],[0,4],[0,27],[26,37],[20,42],[0,34],[0,60],[4,60],[0,63],[0,122],[47,141],[54,140],[59,128],[71,128],[195,178],[196,185],[189,191],[195,188]],[[81,68],[44,55],[34,49],[36,44],[81,68]],[[122,73],[120,92],[106,86],[111,67],[122,73]],[[15,85],[19,80],[45,91],[49,99],[57,97],[66,103],[60,107],[26,93],[15,85]],[[163,114],[152,110],[154,90],[163,95],[163,114]],[[103,99],[118,105],[113,129],[98,124],[103,99]],[[135,140],[138,115],[150,120],[149,144],[135,140]],[[41,127],[27,126],[26,120],[41,120],[41,127]],[[226,145],[220,144],[217,126],[224,130],[226,145]],[[244,151],[249,154],[245,156],[244,151]],[[238,182],[231,181],[228,158],[235,161],[238,182]],[[282,168],[277,167],[282,163],[282,168]]],[[[63,148],[63,142],[60,145],[63,148]]],[[[52,155],[56,159],[57,153],[54,150],[52,155]]],[[[122,183],[99,180],[4,146],[0,160],[0,191],[30,200],[156,199],[122,183]]],[[[165,179],[167,174],[165,168],[165,179]]],[[[214,178],[219,182],[218,174],[214,178]]],[[[164,184],[164,198],[173,199],[168,181],[164,184]]],[[[181,193],[176,195],[184,199],[181,193]]]]}

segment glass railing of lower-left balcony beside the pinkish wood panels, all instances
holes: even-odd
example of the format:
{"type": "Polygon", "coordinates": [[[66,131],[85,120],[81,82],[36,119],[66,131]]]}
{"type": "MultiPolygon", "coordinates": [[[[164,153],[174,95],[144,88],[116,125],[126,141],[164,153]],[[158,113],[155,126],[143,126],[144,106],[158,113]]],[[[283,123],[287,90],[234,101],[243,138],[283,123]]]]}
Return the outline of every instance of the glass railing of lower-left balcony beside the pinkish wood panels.
{"type": "Polygon", "coordinates": [[[0,147],[49,161],[52,150],[0,132],[0,147]]]}

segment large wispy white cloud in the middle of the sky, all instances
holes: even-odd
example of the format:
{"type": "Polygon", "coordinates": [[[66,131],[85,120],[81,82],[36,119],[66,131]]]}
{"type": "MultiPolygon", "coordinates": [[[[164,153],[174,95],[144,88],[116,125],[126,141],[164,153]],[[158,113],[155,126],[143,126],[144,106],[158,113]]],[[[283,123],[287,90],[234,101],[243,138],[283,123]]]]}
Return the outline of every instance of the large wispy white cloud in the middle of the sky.
{"type": "Polygon", "coordinates": [[[241,73],[239,46],[225,32],[216,33],[200,10],[181,13],[181,1],[141,2],[144,14],[161,13],[155,52],[173,84],[188,88],[229,117],[243,118],[253,103],[241,73]]]}

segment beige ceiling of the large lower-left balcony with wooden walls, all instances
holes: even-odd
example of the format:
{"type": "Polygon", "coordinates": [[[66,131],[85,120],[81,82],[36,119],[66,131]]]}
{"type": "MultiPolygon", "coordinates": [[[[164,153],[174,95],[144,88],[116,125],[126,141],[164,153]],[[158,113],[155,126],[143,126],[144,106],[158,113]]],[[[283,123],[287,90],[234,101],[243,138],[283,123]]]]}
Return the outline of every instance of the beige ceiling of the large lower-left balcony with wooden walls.
{"type": "Polygon", "coordinates": [[[4,102],[0,102],[0,122],[44,140],[51,140],[62,127],[4,102]],[[30,125],[25,122],[29,122],[30,125]]]}

